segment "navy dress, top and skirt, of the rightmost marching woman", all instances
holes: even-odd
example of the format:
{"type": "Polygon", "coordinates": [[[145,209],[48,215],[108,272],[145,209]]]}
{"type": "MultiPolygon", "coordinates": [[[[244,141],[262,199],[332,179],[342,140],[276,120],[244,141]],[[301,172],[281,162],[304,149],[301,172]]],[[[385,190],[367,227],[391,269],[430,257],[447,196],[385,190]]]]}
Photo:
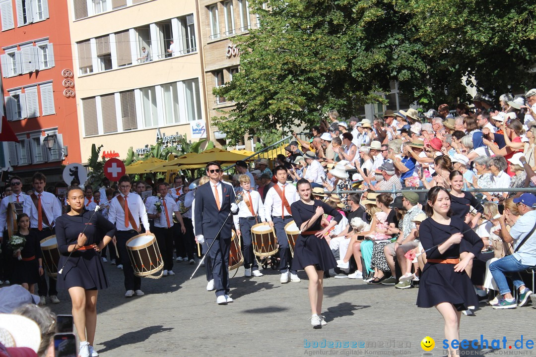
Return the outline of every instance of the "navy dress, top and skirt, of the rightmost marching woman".
{"type": "MultiPolygon", "coordinates": [[[[477,233],[461,219],[451,217],[450,225],[437,223],[431,217],[425,219],[419,228],[419,238],[422,247],[430,249],[426,252],[427,259],[456,259],[460,252],[470,252],[478,256],[484,246],[477,233]],[[437,247],[449,239],[454,233],[464,234],[460,244],[454,244],[443,254],[437,247]],[[432,233],[433,232],[433,233],[432,233]]],[[[474,292],[473,283],[465,270],[455,272],[456,264],[427,262],[422,269],[417,306],[433,307],[440,302],[450,302],[458,311],[467,310],[468,306],[478,306],[478,297],[474,292]]]]}

